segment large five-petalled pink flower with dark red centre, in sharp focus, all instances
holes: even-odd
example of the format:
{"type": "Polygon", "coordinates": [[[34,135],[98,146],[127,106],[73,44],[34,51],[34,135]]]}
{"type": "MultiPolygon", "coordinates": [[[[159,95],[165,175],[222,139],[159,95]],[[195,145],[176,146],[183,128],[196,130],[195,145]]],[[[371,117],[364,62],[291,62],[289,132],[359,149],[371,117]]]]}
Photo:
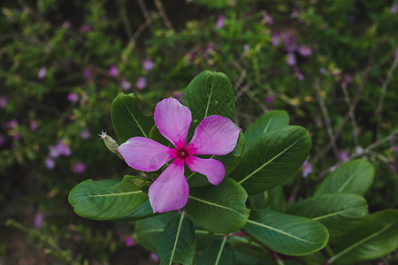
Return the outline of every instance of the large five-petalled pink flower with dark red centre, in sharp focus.
{"type": "Polygon", "coordinates": [[[190,170],[206,176],[212,185],[218,185],[226,175],[223,163],[194,155],[226,155],[232,152],[241,129],[226,117],[205,117],[186,145],[191,121],[192,114],[188,107],[174,98],[166,98],[157,103],[155,124],[175,148],[143,137],[131,138],[118,148],[126,163],[136,170],[159,170],[173,159],[149,186],[149,202],[154,212],[177,210],[187,204],[189,187],[184,176],[185,163],[190,170]]]}

